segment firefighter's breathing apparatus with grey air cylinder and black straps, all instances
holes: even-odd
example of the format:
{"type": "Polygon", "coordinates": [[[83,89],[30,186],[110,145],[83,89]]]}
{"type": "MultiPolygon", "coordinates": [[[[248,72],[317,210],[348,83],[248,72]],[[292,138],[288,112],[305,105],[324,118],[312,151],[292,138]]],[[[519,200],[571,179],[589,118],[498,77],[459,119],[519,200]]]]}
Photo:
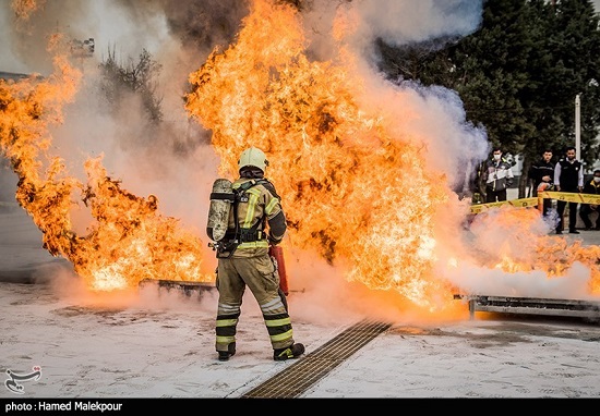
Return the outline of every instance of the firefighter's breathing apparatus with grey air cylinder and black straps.
{"type": "Polygon", "coordinates": [[[213,183],[206,234],[214,242],[208,243],[208,247],[217,252],[217,258],[231,257],[242,242],[256,240],[259,234],[257,228],[262,224],[263,220],[259,221],[251,229],[240,229],[238,205],[241,200],[247,201],[245,192],[260,183],[268,183],[268,181],[251,180],[242,183],[237,189],[233,189],[233,184],[227,179],[219,178],[213,183]],[[229,229],[231,209],[233,210],[235,221],[235,229],[232,230],[229,229]]]}

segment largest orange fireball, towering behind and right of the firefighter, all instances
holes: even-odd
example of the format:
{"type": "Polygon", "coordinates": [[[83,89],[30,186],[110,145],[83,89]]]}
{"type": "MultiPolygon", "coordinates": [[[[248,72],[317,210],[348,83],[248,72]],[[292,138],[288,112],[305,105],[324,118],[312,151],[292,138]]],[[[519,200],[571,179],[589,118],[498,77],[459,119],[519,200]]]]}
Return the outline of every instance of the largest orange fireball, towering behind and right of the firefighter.
{"type": "Polygon", "coordinates": [[[433,212],[447,189],[424,169],[422,145],[393,138],[374,109],[361,108],[360,79],[304,54],[292,7],[255,1],[236,45],[190,76],[187,109],[212,130],[224,173],[248,146],[271,156],[295,245],[372,289],[428,305],[447,287],[431,276],[433,212]]]}

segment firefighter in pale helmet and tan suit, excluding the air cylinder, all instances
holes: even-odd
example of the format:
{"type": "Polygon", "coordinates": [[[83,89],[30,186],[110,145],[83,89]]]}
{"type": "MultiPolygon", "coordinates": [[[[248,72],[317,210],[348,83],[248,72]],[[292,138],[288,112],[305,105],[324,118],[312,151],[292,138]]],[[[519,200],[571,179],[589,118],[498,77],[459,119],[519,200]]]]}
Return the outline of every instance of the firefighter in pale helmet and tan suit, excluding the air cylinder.
{"type": "Polygon", "coordinates": [[[250,147],[240,155],[240,178],[232,184],[237,198],[221,244],[226,248],[224,253],[217,250],[216,351],[224,362],[236,354],[236,329],[245,286],[261,307],[273,358],[286,360],[304,353],[304,345],[293,341],[287,301],[268,255],[269,244],[281,242],[287,225],[275,186],[264,178],[267,164],[259,148],[250,147]]]}

